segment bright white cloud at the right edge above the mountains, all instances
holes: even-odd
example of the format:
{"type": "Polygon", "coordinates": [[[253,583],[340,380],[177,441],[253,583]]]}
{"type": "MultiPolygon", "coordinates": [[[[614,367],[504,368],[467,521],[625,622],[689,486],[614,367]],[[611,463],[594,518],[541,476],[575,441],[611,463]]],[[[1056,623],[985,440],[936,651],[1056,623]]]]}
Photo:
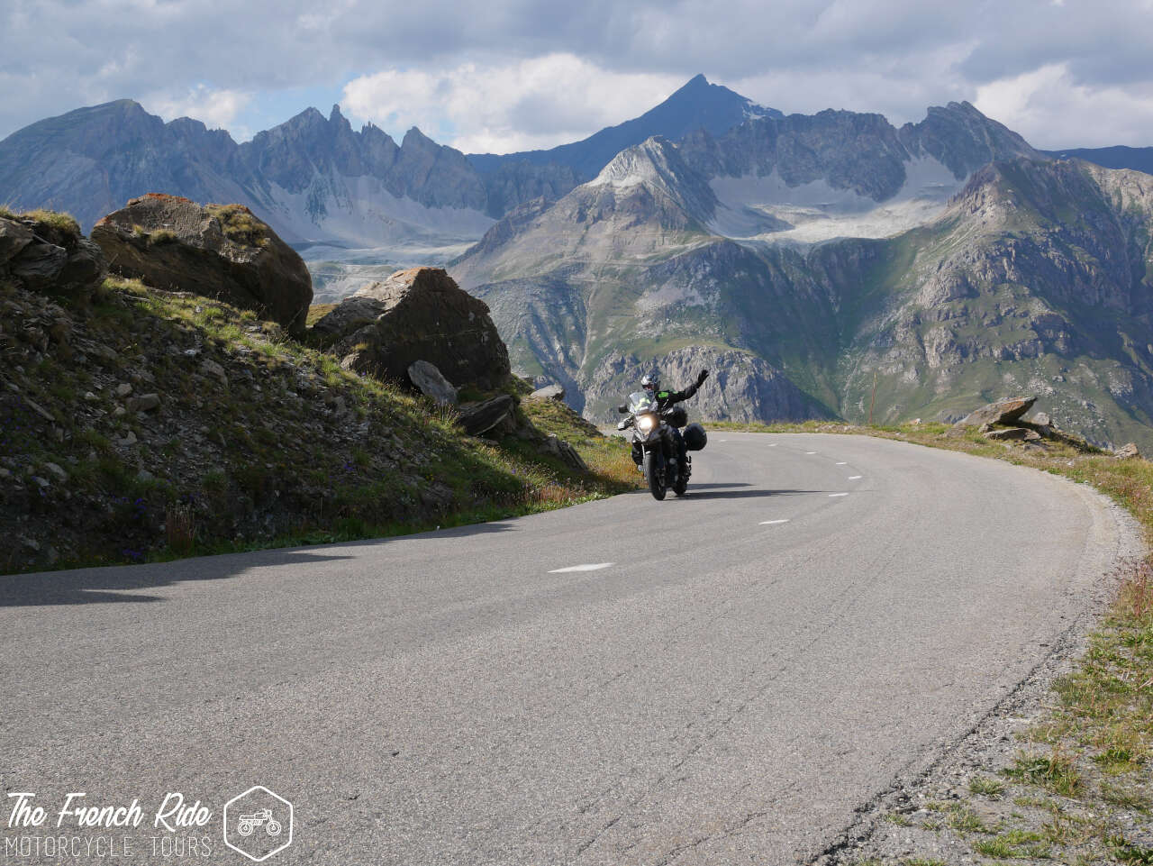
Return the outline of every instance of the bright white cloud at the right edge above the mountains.
{"type": "Polygon", "coordinates": [[[985,84],[973,104],[1037,148],[1153,144],[1153,83],[1082,84],[1068,63],[985,84]]]}

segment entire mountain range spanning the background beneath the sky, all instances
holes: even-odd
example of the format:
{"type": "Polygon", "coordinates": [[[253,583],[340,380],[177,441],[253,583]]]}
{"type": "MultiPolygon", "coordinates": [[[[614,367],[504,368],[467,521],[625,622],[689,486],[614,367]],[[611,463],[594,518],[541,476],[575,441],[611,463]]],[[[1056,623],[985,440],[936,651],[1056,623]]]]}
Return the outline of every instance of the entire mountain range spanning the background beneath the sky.
{"type": "Polygon", "coordinates": [[[608,420],[653,366],[706,417],[951,419],[1017,391],[1153,445],[1153,178],[1141,149],[1033,149],[967,103],[919,123],[784,115],[689,81],[560,148],[398,145],[334,107],[236,144],[131,101],[0,142],[0,202],[90,225],[144,191],[248,204],[318,300],[450,262],[514,367],[608,420]],[[1076,156],[1067,159],[1064,156],[1076,156]],[[1086,161],[1088,160],[1088,161],[1086,161]]]}

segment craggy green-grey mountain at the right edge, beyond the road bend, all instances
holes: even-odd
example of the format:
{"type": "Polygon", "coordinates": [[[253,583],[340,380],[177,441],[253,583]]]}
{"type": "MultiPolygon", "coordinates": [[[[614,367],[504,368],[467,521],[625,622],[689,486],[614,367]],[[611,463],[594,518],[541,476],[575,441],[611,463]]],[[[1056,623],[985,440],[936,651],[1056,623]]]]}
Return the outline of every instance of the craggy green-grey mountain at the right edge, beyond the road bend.
{"type": "Polygon", "coordinates": [[[934,224],[886,243],[834,379],[860,416],[955,420],[1040,396],[1091,440],[1151,442],[1153,176],[1078,160],[995,163],[934,224]]]}

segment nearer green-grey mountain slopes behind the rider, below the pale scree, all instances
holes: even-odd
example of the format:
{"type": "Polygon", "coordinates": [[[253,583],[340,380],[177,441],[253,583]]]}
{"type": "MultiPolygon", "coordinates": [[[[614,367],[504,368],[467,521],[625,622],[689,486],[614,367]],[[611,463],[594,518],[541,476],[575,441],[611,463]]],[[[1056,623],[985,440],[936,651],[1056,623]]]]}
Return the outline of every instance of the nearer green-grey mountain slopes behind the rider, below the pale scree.
{"type": "Polygon", "coordinates": [[[994,163],[927,225],[802,250],[711,234],[708,186],[646,146],[453,269],[586,416],[650,366],[707,366],[707,417],[864,420],[875,383],[879,421],[950,419],[1027,391],[1094,442],[1153,445],[1153,176],[994,163]]]}

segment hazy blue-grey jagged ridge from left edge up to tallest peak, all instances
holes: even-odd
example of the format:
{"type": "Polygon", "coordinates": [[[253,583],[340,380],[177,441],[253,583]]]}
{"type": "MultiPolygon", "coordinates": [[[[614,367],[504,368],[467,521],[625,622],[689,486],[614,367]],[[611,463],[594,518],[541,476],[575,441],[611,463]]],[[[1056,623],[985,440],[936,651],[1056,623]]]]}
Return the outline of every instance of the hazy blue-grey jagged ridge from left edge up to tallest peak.
{"type": "Polygon", "coordinates": [[[353,130],[339,106],[308,108],[253,141],[180,118],[165,123],[128,99],[32,123],[0,142],[0,202],[52,208],[88,229],[150,191],[250,206],[299,246],[377,249],[378,258],[444,258],[492,221],[537,197],[558,198],[621,148],[658,133],[715,131],[760,108],[693,78],[661,105],[585,142],[540,155],[493,157],[480,172],[419,129],[397,144],[368,123],[353,130]],[[600,160],[600,161],[598,161],[600,160]]]}

